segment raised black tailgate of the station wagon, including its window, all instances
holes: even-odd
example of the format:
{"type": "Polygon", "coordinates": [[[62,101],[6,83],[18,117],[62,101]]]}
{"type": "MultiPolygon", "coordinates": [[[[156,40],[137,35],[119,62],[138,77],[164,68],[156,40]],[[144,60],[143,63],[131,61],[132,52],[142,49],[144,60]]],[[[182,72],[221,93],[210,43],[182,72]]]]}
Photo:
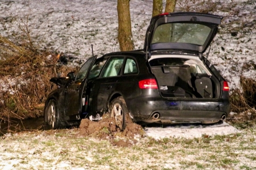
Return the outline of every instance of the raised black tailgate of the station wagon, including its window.
{"type": "Polygon", "coordinates": [[[202,54],[215,37],[221,21],[220,16],[196,12],[163,13],[155,16],[147,30],[144,51],[202,54]]]}

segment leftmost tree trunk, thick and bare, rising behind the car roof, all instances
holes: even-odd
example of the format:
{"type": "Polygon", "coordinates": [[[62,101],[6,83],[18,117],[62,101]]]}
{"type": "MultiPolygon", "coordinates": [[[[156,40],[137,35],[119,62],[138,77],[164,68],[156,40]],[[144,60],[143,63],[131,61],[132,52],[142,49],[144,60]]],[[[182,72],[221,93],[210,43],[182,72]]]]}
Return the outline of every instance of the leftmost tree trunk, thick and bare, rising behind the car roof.
{"type": "Polygon", "coordinates": [[[129,0],[117,0],[118,41],[121,51],[132,51],[134,49],[129,2],[129,0]]]}

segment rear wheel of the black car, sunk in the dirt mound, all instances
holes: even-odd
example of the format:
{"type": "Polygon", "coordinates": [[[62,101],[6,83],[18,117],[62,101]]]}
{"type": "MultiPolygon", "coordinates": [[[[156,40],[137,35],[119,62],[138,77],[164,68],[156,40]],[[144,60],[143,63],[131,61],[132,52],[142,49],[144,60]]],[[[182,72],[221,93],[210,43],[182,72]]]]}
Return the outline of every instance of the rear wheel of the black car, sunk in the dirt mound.
{"type": "Polygon", "coordinates": [[[110,116],[115,118],[115,124],[121,130],[126,128],[125,115],[128,113],[126,102],[123,97],[115,98],[110,104],[110,116]]]}

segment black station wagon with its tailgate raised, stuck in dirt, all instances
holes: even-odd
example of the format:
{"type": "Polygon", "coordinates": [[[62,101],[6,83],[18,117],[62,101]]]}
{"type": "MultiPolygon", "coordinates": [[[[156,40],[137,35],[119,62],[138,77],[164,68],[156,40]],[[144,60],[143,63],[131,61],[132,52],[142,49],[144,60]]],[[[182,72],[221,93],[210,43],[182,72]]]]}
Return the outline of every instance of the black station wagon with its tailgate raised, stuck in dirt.
{"type": "Polygon", "coordinates": [[[144,123],[225,121],[229,86],[203,55],[221,20],[194,12],[153,17],[144,49],[93,56],[76,75],[52,78],[58,88],[47,97],[45,122],[60,128],[103,114],[120,129],[125,115],[144,123]]]}

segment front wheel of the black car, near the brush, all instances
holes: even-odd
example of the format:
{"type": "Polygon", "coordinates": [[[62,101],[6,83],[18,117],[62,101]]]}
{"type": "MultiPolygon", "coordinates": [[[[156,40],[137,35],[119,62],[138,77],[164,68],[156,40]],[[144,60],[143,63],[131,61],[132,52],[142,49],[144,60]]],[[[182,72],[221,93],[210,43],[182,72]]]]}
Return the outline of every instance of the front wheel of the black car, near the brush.
{"type": "Polygon", "coordinates": [[[45,109],[45,117],[47,124],[51,126],[51,129],[58,127],[58,107],[56,100],[50,100],[45,109]]]}

